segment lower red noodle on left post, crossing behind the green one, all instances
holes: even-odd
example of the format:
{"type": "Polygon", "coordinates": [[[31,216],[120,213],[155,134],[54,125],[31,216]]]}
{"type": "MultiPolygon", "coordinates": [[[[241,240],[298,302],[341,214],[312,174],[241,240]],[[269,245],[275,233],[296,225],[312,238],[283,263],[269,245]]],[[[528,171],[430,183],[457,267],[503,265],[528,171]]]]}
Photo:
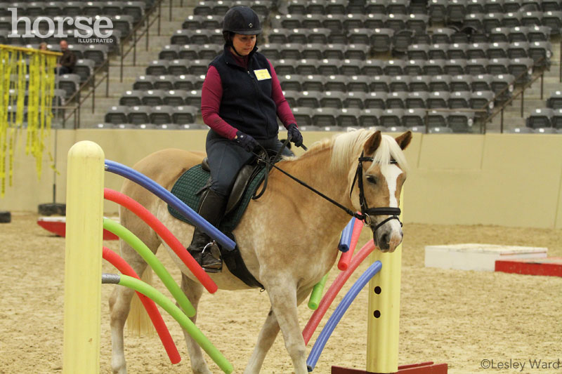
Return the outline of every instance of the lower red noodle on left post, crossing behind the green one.
{"type": "MultiPolygon", "coordinates": [[[[141,279],[138,277],[138,274],[133,270],[131,265],[129,265],[121,256],[117,255],[117,253],[110,250],[110,248],[103,247],[103,259],[110,262],[111,265],[115,266],[119,272],[122,274],[133,276],[136,279],[141,279]]],[[[162,345],[164,345],[164,349],[166,349],[166,353],[171,361],[171,363],[178,363],[181,361],[181,356],[178,352],[178,348],[174,343],[174,340],[171,338],[170,332],[166,327],[166,323],[162,319],[162,315],[158,312],[158,308],[154,301],[150,298],[147,298],[142,293],[136,293],[138,298],[141,299],[148,316],[150,316],[150,320],[154,325],[160,340],[162,340],[162,345]]]]}

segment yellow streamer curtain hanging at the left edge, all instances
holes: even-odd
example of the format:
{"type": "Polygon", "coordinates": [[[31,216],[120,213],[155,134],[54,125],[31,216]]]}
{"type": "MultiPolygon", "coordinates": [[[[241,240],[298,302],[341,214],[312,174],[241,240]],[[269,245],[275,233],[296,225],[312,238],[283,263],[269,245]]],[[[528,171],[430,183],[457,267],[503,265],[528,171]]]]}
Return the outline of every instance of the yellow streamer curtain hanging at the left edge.
{"type": "Polygon", "coordinates": [[[14,149],[26,121],[25,154],[34,157],[41,178],[45,141],[53,119],[57,55],[0,45],[0,61],[0,196],[4,197],[6,179],[12,185],[14,149]]]}

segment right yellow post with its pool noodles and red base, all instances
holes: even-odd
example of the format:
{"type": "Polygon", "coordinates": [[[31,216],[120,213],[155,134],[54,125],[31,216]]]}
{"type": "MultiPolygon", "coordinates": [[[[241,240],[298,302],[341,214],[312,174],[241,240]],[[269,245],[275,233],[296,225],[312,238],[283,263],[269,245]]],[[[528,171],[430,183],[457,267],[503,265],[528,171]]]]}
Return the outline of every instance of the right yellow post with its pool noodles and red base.
{"type": "MultiPolygon", "coordinates": [[[[400,196],[400,209],[403,208],[403,196],[400,196]]],[[[400,215],[400,219],[402,216],[400,215]]],[[[367,370],[355,370],[332,366],[332,374],[370,374],[370,373],[408,373],[408,374],[447,374],[447,364],[433,362],[398,366],[398,333],[400,319],[400,271],[402,262],[402,244],[393,253],[374,251],[374,241],[367,241],[360,251],[353,256],[362,225],[352,218],[341,235],[338,248],[343,249],[338,268],[342,270],[326,294],[315,305],[315,311],[303,329],[305,345],[344,286],[351,274],[371,254],[372,265],[355,281],[348,293],[336,307],[325,327],[320,332],[306,364],[308,371],[318,361],[322,349],[332,334],[351,302],[369,281],[369,314],[367,320],[367,370]],[[384,264],[384,265],[382,265],[384,264]]],[[[323,285],[322,285],[323,286],[323,285]]],[[[312,301],[312,300],[311,300],[312,301]]],[[[309,303],[310,304],[310,303],[309,303]]],[[[312,309],[312,308],[311,308],[312,309]]]]}

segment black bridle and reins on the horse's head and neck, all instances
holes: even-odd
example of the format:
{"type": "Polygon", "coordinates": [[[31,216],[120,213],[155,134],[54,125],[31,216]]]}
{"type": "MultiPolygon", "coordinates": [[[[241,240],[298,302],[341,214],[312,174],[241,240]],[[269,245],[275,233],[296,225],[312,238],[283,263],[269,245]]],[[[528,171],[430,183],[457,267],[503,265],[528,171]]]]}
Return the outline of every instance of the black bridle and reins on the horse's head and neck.
{"type": "MultiPolygon", "coordinates": [[[[351,190],[349,192],[349,196],[351,198],[351,193],[353,192],[353,187],[355,186],[355,181],[357,181],[357,185],[359,187],[359,203],[360,203],[360,206],[361,206],[361,213],[358,213],[358,212],[352,211],[351,209],[346,208],[345,206],[341,205],[341,203],[338,203],[334,199],[331,199],[328,196],[326,196],[325,194],[322,194],[322,192],[318,191],[318,189],[315,189],[314,187],[311,187],[311,186],[307,185],[306,182],[303,182],[302,180],[299,180],[299,178],[296,178],[293,175],[291,175],[291,174],[287,173],[286,171],[282,170],[281,168],[278,168],[277,166],[275,166],[274,161],[277,161],[277,159],[279,159],[281,152],[287,146],[287,144],[289,143],[290,140],[291,140],[290,137],[288,137],[287,140],[285,140],[285,142],[283,143],[283,147],[281,147],[281,149],[277,152],[275,157],[273,157],[273,161],[270,161],[269,159],[261,156],[260,154],[256,154],[256,156],[258,156],[259,161],[261,161],[261,162],[263,162],[267,165],[268,169],[276,168],[278,171],[287,175],[292,180],[298,182],[303,187],[306,187],[306,188],[310,189],[312,192],[314,192],[318,196],[322,197],[322,199],[325,199],[325,200],[329,201],[330,203],[334,204],[335,206],[337,206],[341,210],[345,211],[348,215],[351,215],[352,217],[355,217],[358,220],[364,222],[365,225],[369,226],[372,229],[373,234],[374,234],[374,232],[377,231],[377,229],[379,229],[379,227],[381,227],[382,225],[384,225],[386,222],[388,222],[390,220],[398,220],[398,222],[400,222],[400,218],[398,217],[400,215],[400,208],[393,208],[391,206],[386,206],[386,207],[381,207],[381,208],[369,208],[369,206],[367,205],[367,199],[365,199],[365,188],[363,187],[363,164],[362,163],[363,162],[372,162],[373,161],[372,157],[365,157],[364,152],[361,152],[361,156],[358,159],[359,163],[358,163],[358,166],[357,166],[357,171],[355,171],[355,177],[353,178],[353,184],[351,185],[351,190]],[[390,215],[390,217],[386,218],[385,220],[380,222],[378,225],[373,227],[373,220],[372,220],[371,217],[374,216],[374,215],[390,215]]],[[[306,150],[306,147],[305,147],[305,150],[306,150]]],[[[396,160],[391,160],[391,163],[396,164],[397,162],[396,162],[396,160]]],[[[268,173],[266,173],[266,175],[267,174],[268,173]]],[[[265,183],[265,185],[266,185],[266,183],[265,183]]],[[[257,196],[254,196],[253,199],[259,199],[261,197],[261,195],[263,195],[263,192],[265,192],[265,189],[266,189],[265,185],[264,185],[263,189],[261,190],[261,192],[257,196]]],[[[402,226],[402,222],[400,222],[400,226],[402,226]]]]}

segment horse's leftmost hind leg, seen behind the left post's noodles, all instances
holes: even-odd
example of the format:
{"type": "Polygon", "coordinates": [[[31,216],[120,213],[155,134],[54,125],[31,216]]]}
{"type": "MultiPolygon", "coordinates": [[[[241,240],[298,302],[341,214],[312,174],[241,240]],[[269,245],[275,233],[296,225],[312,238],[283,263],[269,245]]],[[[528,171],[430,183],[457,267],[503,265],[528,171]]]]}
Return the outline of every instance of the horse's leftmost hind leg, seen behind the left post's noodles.
{"type": "MultiPolygon", "coordinates": [[[[148,248],[156,253],[160,241],[158,236],[140,220],[134,216],[128,217],[122,214],[122,225],[128,227],[131,232],[136,234],[148,248]],[[131,225],[133,224],[133,225],[131,225]],[[134,228],[133,228],[134,227],[134,228]]],[[[147,267],[147,263],[141,255],[139,255],[129,244],[120,240],[121,255],[126,262],[131,265],[136,274],[142,276],[147,267]]],[[[111,367],[113,373],[126,374],[126,361],[123,343],[123,330],[127,316],[131,309],[131,299],[133,298],[134,291],[130,288],[116,286],[115,290],[110,296],[110,316],[111,316],[111,345],[112,345],[112,358],[111,367]]]]}

